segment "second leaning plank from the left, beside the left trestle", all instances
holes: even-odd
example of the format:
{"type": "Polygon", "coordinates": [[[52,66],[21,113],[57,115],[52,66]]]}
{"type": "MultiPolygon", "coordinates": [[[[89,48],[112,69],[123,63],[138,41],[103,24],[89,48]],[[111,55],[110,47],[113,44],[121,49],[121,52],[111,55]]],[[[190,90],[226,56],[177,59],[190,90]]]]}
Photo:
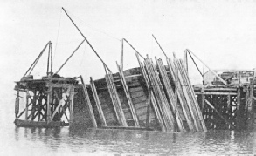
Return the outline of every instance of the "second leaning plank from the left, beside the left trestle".
{"type": "Polygon", "coordinates": [[[93,92],[93,98],[95,100],[95,103],[97,105],[98,112],[99,112],[99,115],[100,115],[101,124],[104,125],[104,126],[107,126],[107,122],[106,122],[106,119],[104,117],[104,113],[102,111],[101,105],[100,105],[100,99],[98,97],[98,93],[97,93],[97,90],[96,90],[96,87],[94,85],[92,77],[90,77],[90,85],[91,85],[92,92],[93,92]]]}

